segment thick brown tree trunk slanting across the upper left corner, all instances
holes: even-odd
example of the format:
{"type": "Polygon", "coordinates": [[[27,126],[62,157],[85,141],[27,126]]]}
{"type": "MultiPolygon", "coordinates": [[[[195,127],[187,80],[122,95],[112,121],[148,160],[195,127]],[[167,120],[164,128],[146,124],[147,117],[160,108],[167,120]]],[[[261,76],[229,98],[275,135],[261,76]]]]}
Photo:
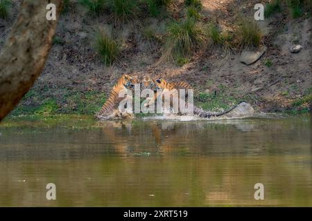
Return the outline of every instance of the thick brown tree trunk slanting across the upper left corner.
{"type": "Polygon", "coordinates": [[[49,55],[62,0],[24,0],[0,53],[0,121],[19,103],[40,75],[49,55]],[[46,6],[56,6],[56,21],[46,6]]]}

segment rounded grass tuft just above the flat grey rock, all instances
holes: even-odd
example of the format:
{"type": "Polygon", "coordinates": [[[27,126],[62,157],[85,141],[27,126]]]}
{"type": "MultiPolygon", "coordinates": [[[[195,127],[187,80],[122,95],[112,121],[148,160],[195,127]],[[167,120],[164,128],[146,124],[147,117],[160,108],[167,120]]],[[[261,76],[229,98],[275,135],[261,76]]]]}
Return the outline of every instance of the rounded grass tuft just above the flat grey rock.
{"type": "Polygon", "coordinates": [[[255,21],[243,19],[236,31],[241,48],[257,48],[261,44],[261,29],[255,21]]]}

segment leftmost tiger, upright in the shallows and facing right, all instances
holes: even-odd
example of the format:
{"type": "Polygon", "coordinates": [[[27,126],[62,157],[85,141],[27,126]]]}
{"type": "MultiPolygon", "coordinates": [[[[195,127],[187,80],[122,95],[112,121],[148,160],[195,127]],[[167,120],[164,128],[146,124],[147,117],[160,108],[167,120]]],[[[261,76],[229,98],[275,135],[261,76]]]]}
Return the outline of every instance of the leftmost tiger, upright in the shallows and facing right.
{"type": "MultiPolygon", "coordinates": [[[[102,106],[101,110],[96,113],[96,117],[99,119],[131,119],[133,114],[129,111],[120,112],[118,105],[123,100],[123,97],[119,97],[119,92],[124,89],[133,90],[135,84],[139,81],[137,77],[132,77],[130,75],[123,75],[117,83],[114,85],[110,92],[110,97],[107,99],[105,104],[102,106]]],[[[126,99],[132,99],[132,97],[127,96],[126,99]]]]}

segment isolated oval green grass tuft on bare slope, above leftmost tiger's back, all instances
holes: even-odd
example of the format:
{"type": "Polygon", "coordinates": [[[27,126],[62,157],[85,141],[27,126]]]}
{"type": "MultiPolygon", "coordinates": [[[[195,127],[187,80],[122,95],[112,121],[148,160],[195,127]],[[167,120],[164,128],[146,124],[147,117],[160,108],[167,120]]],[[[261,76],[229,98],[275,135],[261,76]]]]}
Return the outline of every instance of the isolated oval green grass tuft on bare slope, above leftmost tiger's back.
{"type": "Polygon", "coordinates": [[[112,65],[119,55],[119,44],[104,31],[96,33],[95,49],[106,66],[112,65]]]}

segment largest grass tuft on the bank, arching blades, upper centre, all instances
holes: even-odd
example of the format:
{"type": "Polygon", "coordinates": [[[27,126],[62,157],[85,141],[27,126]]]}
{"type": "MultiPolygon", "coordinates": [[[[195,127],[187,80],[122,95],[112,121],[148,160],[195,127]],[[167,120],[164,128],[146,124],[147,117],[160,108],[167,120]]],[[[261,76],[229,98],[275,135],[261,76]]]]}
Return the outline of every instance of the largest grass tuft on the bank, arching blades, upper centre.
{"type": "Polygon", "coordinates": [[[172,60],[176,57],[189,57],[196,46],[204,44],[205,34],[193,18],[173,22],[168,26],[168,37],[164,46],[162,59],[172,60]]]}

